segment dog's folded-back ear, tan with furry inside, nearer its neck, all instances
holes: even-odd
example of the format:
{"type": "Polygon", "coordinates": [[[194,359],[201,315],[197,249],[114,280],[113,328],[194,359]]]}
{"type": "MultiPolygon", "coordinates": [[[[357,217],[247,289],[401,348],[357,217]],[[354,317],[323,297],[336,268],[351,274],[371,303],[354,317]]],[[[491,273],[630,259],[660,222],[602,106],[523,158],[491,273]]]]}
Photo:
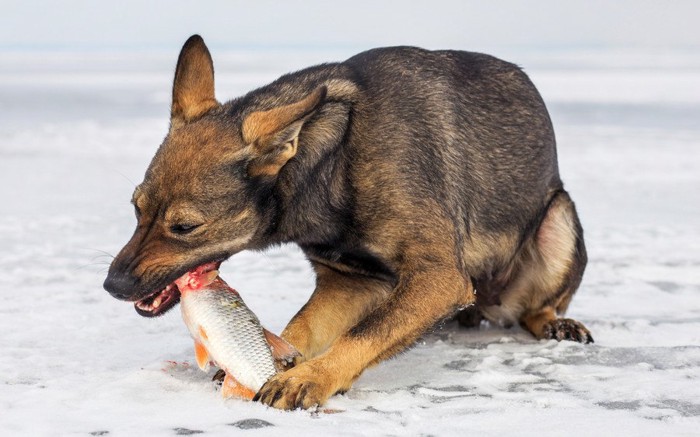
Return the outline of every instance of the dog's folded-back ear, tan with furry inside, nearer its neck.
{"type": "Polygon", "coordinates": [[[250,176],[275,176],[296,155],[299,132],[323,105],[326,91],[325,86],[318,87],[298,102],[256,111],[243,120],[243,141],[253,154],[248,164],[250,176]]]}

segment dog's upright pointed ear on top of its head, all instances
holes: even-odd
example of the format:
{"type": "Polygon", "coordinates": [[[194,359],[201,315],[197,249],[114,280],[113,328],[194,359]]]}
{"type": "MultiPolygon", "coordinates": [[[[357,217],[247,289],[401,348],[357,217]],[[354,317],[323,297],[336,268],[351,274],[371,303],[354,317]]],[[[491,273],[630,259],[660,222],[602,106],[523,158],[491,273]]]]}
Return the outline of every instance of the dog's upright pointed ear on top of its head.
{"type": "Polygon", "coordinates": [[[182,46],[173,82],[170,117],[174,122],[191,121],[218,106],[214,97],[214,64],[199,35],[182,46]]]}

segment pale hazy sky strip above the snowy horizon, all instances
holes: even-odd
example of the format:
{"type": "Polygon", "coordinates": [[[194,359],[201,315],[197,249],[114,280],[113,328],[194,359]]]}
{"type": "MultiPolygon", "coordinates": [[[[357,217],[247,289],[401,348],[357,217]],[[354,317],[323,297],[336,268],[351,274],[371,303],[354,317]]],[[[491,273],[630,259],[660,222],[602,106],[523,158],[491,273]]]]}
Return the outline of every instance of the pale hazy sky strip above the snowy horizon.
{"type": "Polygon", "coordinates": [[[700,46],[692,0],[0,0],[0,48],[700,46]]]}

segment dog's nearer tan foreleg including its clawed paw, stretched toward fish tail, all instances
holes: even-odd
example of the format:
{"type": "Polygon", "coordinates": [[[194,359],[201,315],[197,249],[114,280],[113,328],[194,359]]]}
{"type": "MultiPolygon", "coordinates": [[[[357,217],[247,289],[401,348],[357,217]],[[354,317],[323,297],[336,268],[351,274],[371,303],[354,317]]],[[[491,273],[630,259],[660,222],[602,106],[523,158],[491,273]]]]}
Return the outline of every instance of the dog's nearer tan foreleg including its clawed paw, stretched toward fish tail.
{"type": "MultiPolygon", "coordinates": [[[[444,247],[444,246],[443,246],[444,247]]],[[[350,388],[368,366],[413,343],[427,328],[474,302],[468,276],[436,247],[410,256],[393,293],[322,355],[273,376],[256,399],[276,408],[310,408],[350,388]]]]}

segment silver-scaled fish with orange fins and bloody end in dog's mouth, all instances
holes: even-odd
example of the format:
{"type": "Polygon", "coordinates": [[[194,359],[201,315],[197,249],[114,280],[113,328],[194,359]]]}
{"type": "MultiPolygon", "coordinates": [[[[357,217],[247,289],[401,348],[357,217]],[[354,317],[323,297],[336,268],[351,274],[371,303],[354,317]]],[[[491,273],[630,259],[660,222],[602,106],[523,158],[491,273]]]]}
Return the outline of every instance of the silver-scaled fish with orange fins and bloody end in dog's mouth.
{"type": "Polygon", "coordinates": [[[191,270],[175,281],[182,318],[194,339],[197,365],[210,361],[226,376],[224,398],[251,400],[267,380],[299,352],[260,324],[240,294],[219,276],[218,263],[191,270]]]}

